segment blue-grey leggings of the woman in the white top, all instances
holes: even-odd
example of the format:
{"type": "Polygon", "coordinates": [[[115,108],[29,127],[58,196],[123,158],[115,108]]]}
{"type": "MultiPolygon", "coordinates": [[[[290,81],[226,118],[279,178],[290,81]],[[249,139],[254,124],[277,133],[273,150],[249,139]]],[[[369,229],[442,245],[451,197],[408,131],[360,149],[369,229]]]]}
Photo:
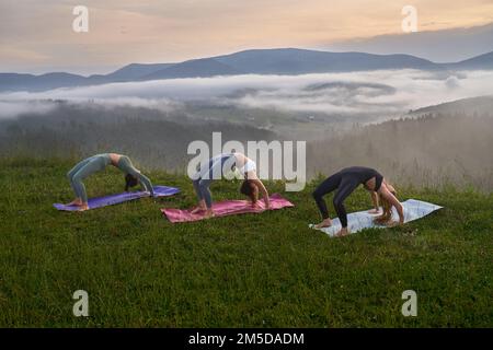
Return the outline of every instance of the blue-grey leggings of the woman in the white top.
{"type": "Polygon", "coordinates": [[[221,154],[210,159],[207,166],[200,168],[196,174],[196,178],[193,180],[197,198],[198,200],[205,201],[207,209],[213,208],[213,195],[210,194],[209,186],[213,179],[218,179],[223,175],[223,168],[227,162],[226,167],[234,166],[234,155],[221,154]]]}

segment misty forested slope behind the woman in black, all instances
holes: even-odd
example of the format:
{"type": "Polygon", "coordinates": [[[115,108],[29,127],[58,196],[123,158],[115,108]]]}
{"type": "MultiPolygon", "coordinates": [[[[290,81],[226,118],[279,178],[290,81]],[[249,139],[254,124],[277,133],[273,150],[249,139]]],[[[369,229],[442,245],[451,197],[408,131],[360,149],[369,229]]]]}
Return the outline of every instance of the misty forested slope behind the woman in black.
{"type": "Polygon", "coordinates": [[[310,176],[359,164],[397,183],[419,187],[446,184],[493,189],[493,116],[460,113],[355,127],[351,132],[310,142],[310,176]]]}

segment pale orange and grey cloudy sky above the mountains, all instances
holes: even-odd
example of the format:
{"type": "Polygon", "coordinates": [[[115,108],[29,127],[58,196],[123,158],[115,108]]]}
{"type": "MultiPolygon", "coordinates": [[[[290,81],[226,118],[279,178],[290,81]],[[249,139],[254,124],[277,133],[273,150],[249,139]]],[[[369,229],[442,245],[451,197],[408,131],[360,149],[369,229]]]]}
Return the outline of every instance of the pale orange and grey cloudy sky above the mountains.
{"type": "Polygon", "coordinates": [[[412,4],[420,31],[493,22],[492,0],[1,0],[0,71],[108,72],[248,48],[324,48],[402,34],[412,4]],[[74,33],[74,5],[89,33],[74,33]]]}

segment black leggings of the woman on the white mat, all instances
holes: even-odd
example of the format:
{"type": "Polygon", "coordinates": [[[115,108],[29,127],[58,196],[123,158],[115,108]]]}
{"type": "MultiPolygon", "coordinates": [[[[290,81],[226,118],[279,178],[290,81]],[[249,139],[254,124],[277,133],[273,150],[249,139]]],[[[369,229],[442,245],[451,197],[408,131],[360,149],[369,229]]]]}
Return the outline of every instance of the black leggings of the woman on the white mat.
{"type": "Polygon", "coordinates": [[[337,213],[342,226],[347,228],[347,214],[346,208],[344,208],[344,200],[359,186],[359,184],[360,182],[357,178],[342,176],[340,173],[328,177],[323,183],[321,183],[313,191],[313,198],[320,212],[322,213],[322,218],[329,218],[329,211],[326,210],[323,196],[337,189],[333,199],[335,212],[337,213]]]}

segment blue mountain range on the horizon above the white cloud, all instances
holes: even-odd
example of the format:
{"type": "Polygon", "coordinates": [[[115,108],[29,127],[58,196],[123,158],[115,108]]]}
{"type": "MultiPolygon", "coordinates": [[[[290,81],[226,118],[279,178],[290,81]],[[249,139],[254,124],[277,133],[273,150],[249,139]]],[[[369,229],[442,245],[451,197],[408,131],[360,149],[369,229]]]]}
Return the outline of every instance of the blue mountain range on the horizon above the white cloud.
{"type": "Polygon", "coordinates": [[[237,74],[295,75],[385,69],[492,70],[493,51],[458,62],[436,63],[411,55],[330,52],[297,48],[252,49],[177,63],[131,63],[108,74],[89,77],[66,72],[39,75],[0,73],[0,91],[44,91],[57,88],[177,78],[237,74]]]}

